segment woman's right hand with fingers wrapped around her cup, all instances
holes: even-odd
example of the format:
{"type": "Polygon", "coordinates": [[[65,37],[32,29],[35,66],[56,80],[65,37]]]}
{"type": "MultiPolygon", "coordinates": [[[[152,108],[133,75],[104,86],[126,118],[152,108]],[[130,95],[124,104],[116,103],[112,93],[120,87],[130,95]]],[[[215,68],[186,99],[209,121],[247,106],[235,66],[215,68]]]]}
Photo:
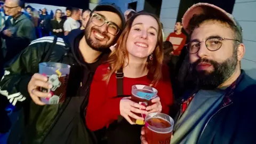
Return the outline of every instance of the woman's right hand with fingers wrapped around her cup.
{"type": "Polygon", "coordinates": [[[134,119],[141,119],[141,120],[144,120],[144,118],[139,117],[139,116],[135,115],[134,113],[148,114],[148,112],[146,110],[142,110],[142,109],[146,109],[145,106],[142,106],[139,103],[133,102],[130,99],[131,99],[131,97],[123,98],[120,101],[120,114],[127,120],[127,122],[129,122],[130,124],[135,124],[132,122],[130,117],[132,117],[134,119]]]}

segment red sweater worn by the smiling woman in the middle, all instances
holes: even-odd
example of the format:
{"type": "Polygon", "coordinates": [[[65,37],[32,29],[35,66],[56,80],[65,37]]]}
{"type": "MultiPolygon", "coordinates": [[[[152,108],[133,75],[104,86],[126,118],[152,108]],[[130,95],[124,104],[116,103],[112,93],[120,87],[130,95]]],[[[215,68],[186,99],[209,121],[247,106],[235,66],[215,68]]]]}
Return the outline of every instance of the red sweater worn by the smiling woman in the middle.
{"type": "MultiPolygon", "coordinates": [[[[102,81],[103,76],[107,74],[108,66],[105,64],[97,68],[91,84],[89,104],[85,118],[86,125],[91,131],[108,126],[120,115],[119,103],[122,98],[116,98],[117,86],[115,74],[110,77],[108,84],[106,81],[102,81]]],[[[162,113],[168,114],[169,107],[173,103],[173,94],[167,69],[163,70],[163,77],[163,81],[159,82],[155,88],[158,90],[158,96],[163,106],[162,113]]],[[[131,95],[132,85],[134,84],[149,85],[150,82],[147,76],[139,78],[124,77],[124,95],[131,95]]]]}

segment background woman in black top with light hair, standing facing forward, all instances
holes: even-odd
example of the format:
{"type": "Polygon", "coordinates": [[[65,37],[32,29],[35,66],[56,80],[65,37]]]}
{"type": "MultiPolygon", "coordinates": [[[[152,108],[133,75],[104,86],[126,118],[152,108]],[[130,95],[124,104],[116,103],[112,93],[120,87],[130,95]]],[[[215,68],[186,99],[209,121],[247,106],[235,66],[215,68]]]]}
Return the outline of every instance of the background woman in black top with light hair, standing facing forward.
{"type": "Polygon", "coordinates": [[[60,9],[57,9],[55,11],[55,17],[51,21],[52,35],[55,35],[57,37],[63,37],[64,36],[63,25],[64,25],[65,20],[61,19],[61,13],[62,13],[62,11],[60,9]]]}

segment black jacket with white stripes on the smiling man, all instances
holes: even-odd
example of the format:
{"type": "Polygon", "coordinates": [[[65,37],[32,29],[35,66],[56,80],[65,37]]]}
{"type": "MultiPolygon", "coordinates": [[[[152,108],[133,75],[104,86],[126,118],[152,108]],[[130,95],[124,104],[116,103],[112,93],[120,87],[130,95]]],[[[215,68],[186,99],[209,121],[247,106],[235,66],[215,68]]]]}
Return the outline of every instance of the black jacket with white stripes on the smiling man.
{"type": "MultiPolygon", "coordinates": [[[[79,33],[75,35],[78,36],[82,33],[83,31],[79,31],[79,33]]],[[[75,38],[76,36],[66,39],[58,38],[57,43],[53,47],[49,59],[47,60],[51,62],[66,63],[71,66],[67,85],[67,97],[65,102],[59,105],[38,106],[31,100],[27,90],[31,76],[38,73],[38,64],[43,62],[46,53],[53,43],[54,37],[42,37],[31,42],[31,44],[17,55],[17,57],[5,68],[4,77],[0,82],[0,93],[7,97],[13,106],[21,108],[22,116],[19,118],[21,121],[19,123],[22,123],[22,125],[24,124],[25,127],[24,129],[21,129],[19,127],[20,124],[18,124],[18,128],[15,128],[14,125],[13,129],[15,130],[11,131],[9,143],[18,143],[20,140],[21,143],[26,144],[43,143],[47,134],[58,121],[63,110],[65,110],[71,97],[77,94],[78,88],[83,81],[83,71],[85,69],[90,71],[91,78],[88,78],[88,81],[91,81],[94,71],[91,71],[86,63],[82,63],[78,60],[73,49],[75,38]]],[[[101,57],[101,59],[106,60],[108,54],[103,55],[104,56],[101,57]]],[[[91,82],[86,82],[86,84],[87,87],[89,87],[91,82]]],[[[89,96],[89,90],[90,89],[88,89],[84,95],[89,96]]],[[[87,96],[84,99],[81,109],[85,109],[86,105],[87,96]]],[[[84,113],[81,115],[84,117],[84,113]]],[[[91,134],[92,133],[87,135],[91,134]]]]}

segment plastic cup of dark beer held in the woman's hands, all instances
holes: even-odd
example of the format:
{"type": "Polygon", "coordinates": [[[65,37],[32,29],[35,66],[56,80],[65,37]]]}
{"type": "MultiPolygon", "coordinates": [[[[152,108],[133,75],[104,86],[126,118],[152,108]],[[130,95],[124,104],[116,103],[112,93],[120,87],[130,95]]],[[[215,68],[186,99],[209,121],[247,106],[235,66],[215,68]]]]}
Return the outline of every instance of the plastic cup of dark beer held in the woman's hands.
{"type": "MultiPolygon", "coordinates": [[[[139,103],[145,107],[152,105],[152,99],[157,97],[157,90],[154,87],[150,87],[147,85],[133,85],[132,86],[132,95],[131,100],[139,103]]],[[[140,117],[145,117],[142,114],[136,114],[140,117]]],[[[140,119],[131,118],[131,120],[139,125],[145,124],[144,121],[140,119]]]]}

